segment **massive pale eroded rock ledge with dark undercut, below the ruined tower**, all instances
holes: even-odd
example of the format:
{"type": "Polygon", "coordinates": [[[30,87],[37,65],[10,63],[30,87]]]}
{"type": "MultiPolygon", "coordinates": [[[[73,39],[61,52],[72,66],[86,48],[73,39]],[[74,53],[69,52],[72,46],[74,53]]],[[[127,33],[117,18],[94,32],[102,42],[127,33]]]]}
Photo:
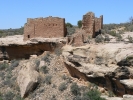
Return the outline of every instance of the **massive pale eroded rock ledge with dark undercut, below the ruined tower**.
{"type": "Polygon", "coordinates": [[[69,71],[73,77],[93,82],[119,96],[133,94],[132,85],[127,84],[133,78],[133,44],[66,45],[62,50],[64,63],[73,69],[69,71]]]}

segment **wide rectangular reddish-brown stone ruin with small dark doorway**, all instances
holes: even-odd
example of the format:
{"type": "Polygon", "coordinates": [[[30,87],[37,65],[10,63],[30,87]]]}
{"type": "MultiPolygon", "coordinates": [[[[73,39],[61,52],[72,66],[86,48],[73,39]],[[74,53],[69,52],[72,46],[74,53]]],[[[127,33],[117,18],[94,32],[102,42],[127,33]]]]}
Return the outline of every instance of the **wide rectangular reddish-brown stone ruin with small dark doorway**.
{"type": "Polygon", "coordinates": [[[57,38],[66,36],[65,19],[59,17],[46,17],[27,19],[24,26],[24,41],[30,38],[57,38]]]}

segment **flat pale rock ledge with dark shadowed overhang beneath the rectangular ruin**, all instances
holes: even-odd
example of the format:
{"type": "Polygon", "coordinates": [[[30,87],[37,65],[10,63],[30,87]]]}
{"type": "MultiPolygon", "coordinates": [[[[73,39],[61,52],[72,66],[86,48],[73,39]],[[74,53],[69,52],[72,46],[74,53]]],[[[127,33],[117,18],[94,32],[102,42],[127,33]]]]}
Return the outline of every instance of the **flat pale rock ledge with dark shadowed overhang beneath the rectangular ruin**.
{"type": "Polygon", "coordinates": [[[65,43],[65,38],[35,38],[29,41],[23,41],[23,36],[0,38],[0,60],[28,59],[30,55],[41,55],[44,51],[53,52],[65,43]]]}

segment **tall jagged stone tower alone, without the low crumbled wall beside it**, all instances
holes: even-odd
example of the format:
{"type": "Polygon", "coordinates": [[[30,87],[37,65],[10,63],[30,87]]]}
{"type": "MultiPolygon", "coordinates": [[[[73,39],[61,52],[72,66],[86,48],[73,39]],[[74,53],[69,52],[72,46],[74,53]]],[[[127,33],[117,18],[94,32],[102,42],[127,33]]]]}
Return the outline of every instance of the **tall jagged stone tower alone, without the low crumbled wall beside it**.
{"type": "Polygon", "coordinates": [[[91,37],[95,37],[102,28],[102,15],[100,16],[100,18],[95,17],[95,14],[93,12],[88,12],[87,14],[83,15],[82,29],[86,31],[86,34],[84,34],[85,41],[86,38],[88,38],[88,35],[90,35],[91,37]]]}

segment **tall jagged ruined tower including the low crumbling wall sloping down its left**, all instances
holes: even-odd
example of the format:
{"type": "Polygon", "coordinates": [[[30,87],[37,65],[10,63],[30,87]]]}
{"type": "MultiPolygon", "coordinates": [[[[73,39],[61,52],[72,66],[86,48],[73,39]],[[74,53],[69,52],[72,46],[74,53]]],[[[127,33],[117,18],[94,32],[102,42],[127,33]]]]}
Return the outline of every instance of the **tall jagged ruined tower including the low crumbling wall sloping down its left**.
{"type": "Polygon", "coordinates": [[[102,28],[103,15],[101,15],[100,18],[97,18],[93,12],[88,12],[83,15],[82,28],[76,32],[76,35],[73,35],[73,38],[71,38],[73,39],[73,42],[71,42],[71,44],[74,46],[81,46],[83,43],[87,43],[88,38],[95,38],[101,33],[102,28]]]}

